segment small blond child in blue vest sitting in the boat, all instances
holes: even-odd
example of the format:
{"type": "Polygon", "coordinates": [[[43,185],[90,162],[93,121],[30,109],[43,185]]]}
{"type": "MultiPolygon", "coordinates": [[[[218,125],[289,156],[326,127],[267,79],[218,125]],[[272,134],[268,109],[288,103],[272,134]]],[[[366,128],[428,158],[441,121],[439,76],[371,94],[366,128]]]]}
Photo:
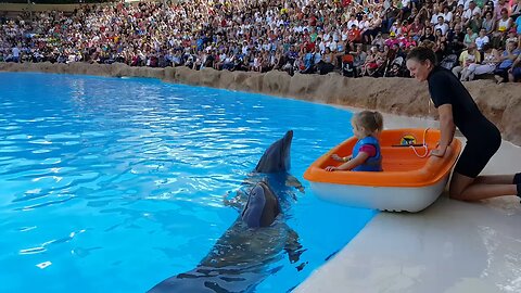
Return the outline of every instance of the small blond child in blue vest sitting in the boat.
{"type": "Polygon", "coordinates": [[[371,111],[358,112],[353,116],[351,124],[355,137],[358,139],[353,148],[353,155],[341,157],[332,154],[333,160],[346,163],[338,167],[328,166],[326,170],[381,171],[382,155],[378,135],[383,129],[382,114],[371,111]]]}

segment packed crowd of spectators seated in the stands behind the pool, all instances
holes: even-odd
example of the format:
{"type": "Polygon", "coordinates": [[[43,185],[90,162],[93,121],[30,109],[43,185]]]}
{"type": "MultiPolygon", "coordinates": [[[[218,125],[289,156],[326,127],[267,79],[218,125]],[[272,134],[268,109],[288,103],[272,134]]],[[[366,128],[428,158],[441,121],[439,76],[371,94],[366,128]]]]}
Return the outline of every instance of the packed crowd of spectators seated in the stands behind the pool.
{"type": "Polygon", "coordinates": [[[0,62],[409,76],[431,47],[461,80],[521,79],[521,0],[192,0],[0,13],[0,62]]]}

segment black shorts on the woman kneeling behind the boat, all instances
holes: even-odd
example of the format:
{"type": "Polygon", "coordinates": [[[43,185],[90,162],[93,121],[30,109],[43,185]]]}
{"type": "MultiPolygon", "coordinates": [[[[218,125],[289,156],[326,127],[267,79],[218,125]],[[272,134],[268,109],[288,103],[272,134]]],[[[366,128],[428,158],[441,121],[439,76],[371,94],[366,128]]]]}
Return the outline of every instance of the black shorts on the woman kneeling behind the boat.
{"type": "MultiPolygon", "coordinates": [[[[483,133],[483,132],[482,132],[483,133]]],[[[469,139],[454,168],[455,173],[475,178],[501,145],[501,133],[497,128],[487,129],[479,139],[469,139]]]]}

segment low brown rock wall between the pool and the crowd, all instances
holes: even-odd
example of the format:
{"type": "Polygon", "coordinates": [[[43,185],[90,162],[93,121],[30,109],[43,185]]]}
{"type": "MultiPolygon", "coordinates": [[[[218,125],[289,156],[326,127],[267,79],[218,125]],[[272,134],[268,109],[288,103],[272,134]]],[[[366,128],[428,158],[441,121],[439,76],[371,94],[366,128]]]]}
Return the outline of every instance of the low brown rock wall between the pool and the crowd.
{"type": "MultiPolygon", "coordinates": [[[[198,72],[187,67],[163,69],[85,63],[0,63],[0,71],[150,77],[166,82],[266,93],[405,116],[435,118],[437,114],[430,103],[427,82],[420,84],[411,78],[345,78],[338,74],[295,74],[291,77],[282,72],[259,74],[211,68],[198,72]]],[[[485,116],[499,127],[503,138],[521,145],[520,84],[496,85],[492,80],[475,80],[465,86],[485,116]]]]}

